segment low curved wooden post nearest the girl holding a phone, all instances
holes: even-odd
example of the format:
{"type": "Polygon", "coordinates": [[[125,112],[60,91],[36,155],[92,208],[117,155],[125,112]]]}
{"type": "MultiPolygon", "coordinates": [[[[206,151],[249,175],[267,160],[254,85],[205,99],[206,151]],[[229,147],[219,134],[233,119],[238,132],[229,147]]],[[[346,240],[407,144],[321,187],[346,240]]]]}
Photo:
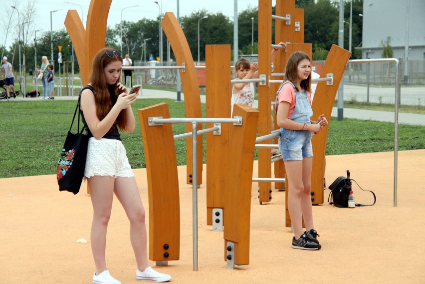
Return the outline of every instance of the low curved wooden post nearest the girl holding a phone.
{"type": "Polygon", "coordinates": [[[160,103],[138,113],[148,177],[149,259],[179,260],[180,198],[173,129],[168,123],[148,125],[149,117],[170,118],[170,112],[166,103],[160,103]]]}

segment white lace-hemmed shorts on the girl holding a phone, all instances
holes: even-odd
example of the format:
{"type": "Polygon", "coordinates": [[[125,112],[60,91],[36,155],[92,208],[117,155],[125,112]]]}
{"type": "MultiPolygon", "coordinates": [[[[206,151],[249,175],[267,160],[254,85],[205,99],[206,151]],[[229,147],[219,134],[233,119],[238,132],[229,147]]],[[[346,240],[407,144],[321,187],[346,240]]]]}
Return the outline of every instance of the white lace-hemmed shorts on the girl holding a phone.
{"type": "Polygon", "coordinates": [[[92,176],[134,177],[120,140],[89,138],[84,177],[92,176]]]}

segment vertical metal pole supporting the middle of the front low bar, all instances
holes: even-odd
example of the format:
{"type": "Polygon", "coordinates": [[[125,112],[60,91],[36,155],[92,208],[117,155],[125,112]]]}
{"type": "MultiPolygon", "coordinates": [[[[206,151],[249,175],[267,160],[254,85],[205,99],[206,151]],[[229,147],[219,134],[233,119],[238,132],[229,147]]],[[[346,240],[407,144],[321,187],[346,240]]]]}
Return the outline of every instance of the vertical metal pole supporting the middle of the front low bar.
{"type": "Polygon", "coordinates": [[[197,122],[192,122],[192,191],[193,191],[193,270],[198,271],[198,164],[197,164],[197,122]]]}

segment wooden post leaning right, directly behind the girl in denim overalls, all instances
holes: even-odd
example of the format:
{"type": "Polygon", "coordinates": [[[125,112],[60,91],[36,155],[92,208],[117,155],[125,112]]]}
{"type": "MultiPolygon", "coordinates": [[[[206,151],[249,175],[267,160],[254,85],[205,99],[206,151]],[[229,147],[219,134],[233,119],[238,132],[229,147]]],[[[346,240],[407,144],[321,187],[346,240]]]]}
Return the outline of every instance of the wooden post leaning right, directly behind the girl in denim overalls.
{"type": "MultiPolygon", "coordinates": [[[[333,74],[333,85],[328,85],[326,82],[319,82],[317,84],[316,92],[313,100],[313,116],[311,119],[315,120],[320,114],[324,114],[330,121],[332,107],[334,105],[335,97],[338,92],[338,87],[344,75],[348,59],[351,52],[341,48],[335,44],[332,45],[326,58],[325,66],[320,74],[320,78],[326,78],[326,74],[333,74]]],[[[311,140],[313,143],[313,171],[311,173],[311,192],[313,203],[321,204],[324,202],[323,198],[323,179],[325,177],[325,154],[326,154],[326,141],[328,139],[329,127],[324,127],[318,135],[313,135],[311,140]]]]}

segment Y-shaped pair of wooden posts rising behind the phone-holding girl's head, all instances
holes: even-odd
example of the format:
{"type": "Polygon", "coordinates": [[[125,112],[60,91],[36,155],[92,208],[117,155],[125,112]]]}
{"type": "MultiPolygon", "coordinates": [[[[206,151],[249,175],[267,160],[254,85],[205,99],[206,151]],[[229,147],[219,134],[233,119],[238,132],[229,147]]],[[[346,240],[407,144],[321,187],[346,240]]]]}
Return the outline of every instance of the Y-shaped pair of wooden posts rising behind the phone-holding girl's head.
{"type": "Polygon", "coordinates": [[[76,10],[68,10],[65,27],[69,33],[78,58],[83,85],[89,83],[92,60],[99,49],[106,44],[106,22],[112,0],[91,0],[84,26],[76,10]]]}

